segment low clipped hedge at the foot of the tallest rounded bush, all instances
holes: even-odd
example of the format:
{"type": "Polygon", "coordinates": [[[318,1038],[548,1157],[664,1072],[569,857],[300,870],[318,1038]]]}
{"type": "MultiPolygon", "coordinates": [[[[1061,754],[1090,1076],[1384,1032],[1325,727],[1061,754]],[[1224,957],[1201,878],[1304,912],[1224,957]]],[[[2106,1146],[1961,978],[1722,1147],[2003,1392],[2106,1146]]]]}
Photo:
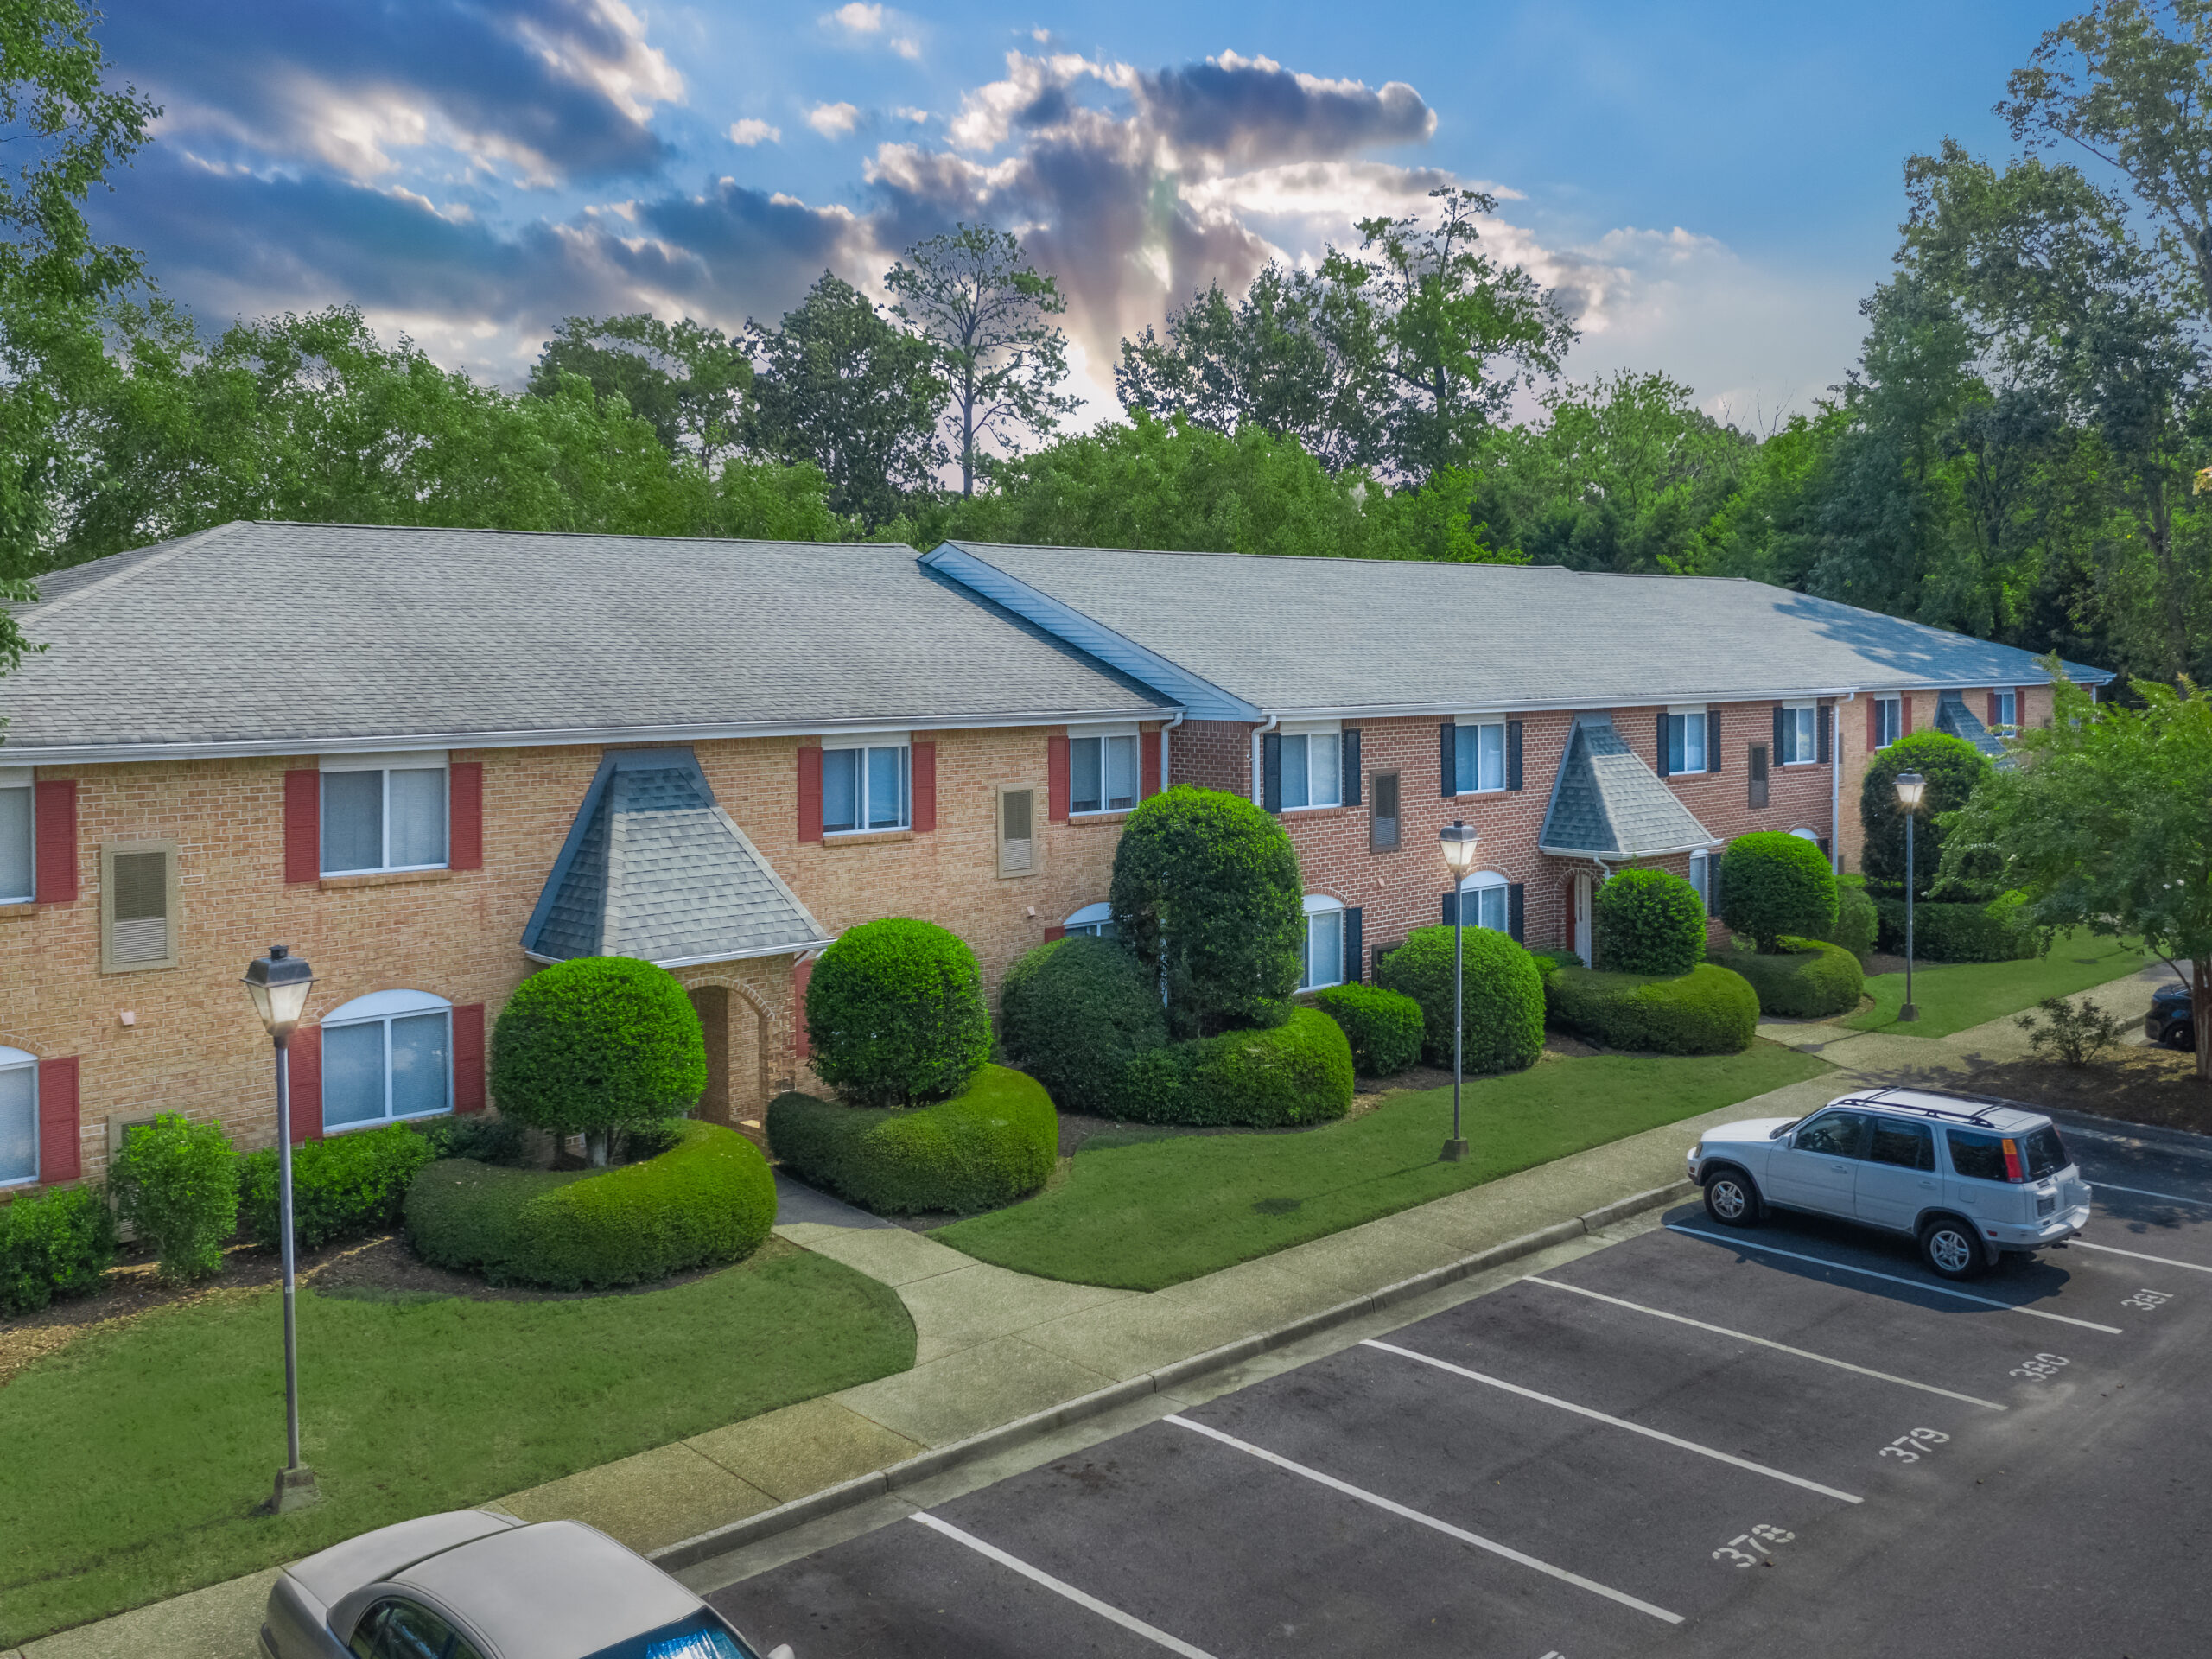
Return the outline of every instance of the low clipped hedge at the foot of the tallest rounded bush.
{"type": "Polygon", "coordinates": [[[1267,1031],[1223,1031],[1139,1055],[1121,1077],[1119,1117],[1139,1124],[1303,1128],[1352,1110],[1352,1044],[1321,1009],[1267,1031]]]}

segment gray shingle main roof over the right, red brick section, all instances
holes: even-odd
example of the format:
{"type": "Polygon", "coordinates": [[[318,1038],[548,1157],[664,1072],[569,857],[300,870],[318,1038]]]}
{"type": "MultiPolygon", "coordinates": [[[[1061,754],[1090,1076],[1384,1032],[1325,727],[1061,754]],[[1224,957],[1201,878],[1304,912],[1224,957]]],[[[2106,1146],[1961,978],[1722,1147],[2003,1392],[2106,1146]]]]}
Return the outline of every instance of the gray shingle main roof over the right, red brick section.
{"type": "MultiPolygon", "coordinates": [[[[1141,657],[1164,659],[1270,714],[2046,679],[2013,646],[1719,577],[984,542],[947,542],[925,562],[1126,672],[1141,657]],[[1073,628],[1068,615],[1079,617],[1073,628]]],[[[2110,679],[2077,664],[2068,672],[2110,679]]]]}

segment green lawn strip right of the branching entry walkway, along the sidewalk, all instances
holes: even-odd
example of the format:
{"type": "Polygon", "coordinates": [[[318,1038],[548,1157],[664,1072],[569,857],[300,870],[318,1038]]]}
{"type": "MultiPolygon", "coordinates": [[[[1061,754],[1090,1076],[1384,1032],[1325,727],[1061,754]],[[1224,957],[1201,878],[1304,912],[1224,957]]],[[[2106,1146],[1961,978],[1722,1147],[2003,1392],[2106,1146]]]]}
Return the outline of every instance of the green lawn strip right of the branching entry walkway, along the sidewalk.
{"type": "Polygon", "coordinates": [[[1464,1164],[1436,1161],[1449,1088],[1296,1135],[1095,1137],[1066,1183],[931,1237],[1044,1279],[1161,1290],[1823,1071],[1770,1042],[1712,1060],[1546,1060],[1467,1086],[1464,1164]]]}

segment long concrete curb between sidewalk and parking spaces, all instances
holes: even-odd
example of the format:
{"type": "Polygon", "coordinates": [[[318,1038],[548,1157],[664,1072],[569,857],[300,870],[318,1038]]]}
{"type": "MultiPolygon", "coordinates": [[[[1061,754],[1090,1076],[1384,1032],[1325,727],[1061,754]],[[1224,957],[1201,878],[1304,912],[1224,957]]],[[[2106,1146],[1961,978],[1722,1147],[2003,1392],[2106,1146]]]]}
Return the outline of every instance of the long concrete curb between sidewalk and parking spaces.
{"type": "Polygon", "coordinates": [[[1133,1376],[1126,1383],[1079,1394],[1073,1400],[1062,1400],[1060,1405],[1033,1411],[1026,1418],[1015,1418],[1013,1422],[1002,1422],[995,1429],[984,1429],[967,1440],[951,1440],[942,1447],[931,1447],[929,1451],[907,1458],[905,1462],[896,1462],[889,1469],[878,1469],[874,1473],[858,1475],[856,1480],[838,1482],[836,1486],[823,1486],[821,1491],[794,1498],[787,1504],[763,1509],[759,1515],[748,1515],[745,1520],[730,1522],[728,1526],[714,1526],[712,1531],[695,1537],[664,1544],[657,1551],[646,1551],[646,1559],[670,1573],[697,1566],[699,1562],[708,1562],[717,1555],[728,1555],[730,1551],[757,1544],[763,1537],[785,1533],[792,1526],[803,1526],[805,1522],[821,1520],[823,1515],[834,1515],[843,1509],[865,1504],[872,1498],[885,1498],[902,1486],[914,1486],[916,1482],[958,1464],[973,1462],[975,1458],[987,1458],[995,1451],[1004,1451],[1006,1447],[1018,1447],[1024,1440],[1037,1440],[1055,1429],[1064,1429],[1071,1422],[1082,1422],[1084,1418],[1095,1418],[1102,1411],[1113,1411],[1117,1405],[1141,1400],[1148,1394],[1166,1394],[1181,1383],[1212,1371],[1225,1371],[1232,1365],[1243,1365],[1250,1358],[1287,1347],[1290,1343],[1332,1329],[1345,1321],[1360,1318],[1363,1314],[1383,1312],[1396,1303],[1425,1296],[1431,1290],[1442,1290],[1444,1285],[1473,1279],[1491,1267],[1502,1267],[1509,1261],[1520,1261],[1522,1256],[1533,1256],[1540,1250],[1571,1243],[1597,1232],[1599,1228],[1610,1228],[1615,1221],[1626,1221],[1632,1214],[1679,1203],[1692,1192],[1697,1192],[1697,1186],[1690,1181],[1672,1181],[1670,1186],[1659,1186],[1648,1192],[1632,1192],[1626,1199],[1604,1203],[1588,1214],[1575,1217],[1573,1221],[1555,1221],[1548,1228],[1524,1232],[1520,1239],[1506,1239],[1500,1245],[1478,1250],[1471,1256],[1460,1256],[1458,1261],[1431,1267],[1425,1274],[1413,1274],[1411,1279],[1400,1279],[1394,1285],[1371,1290],[1365,1296],[1354,1296],[1336,1303],[1334,1307],[1323,1307],[1318,1314],[1294,1318],[1272,1332],[1259,1332],[1256,1336],[1223,1343],[1221,1347],[1212,1347],[1203,1354],[1192,1354],[1188,1360],[1161,1365],[1157,1371],[1146,1371],[1144,1376],[1133,1376]]]}

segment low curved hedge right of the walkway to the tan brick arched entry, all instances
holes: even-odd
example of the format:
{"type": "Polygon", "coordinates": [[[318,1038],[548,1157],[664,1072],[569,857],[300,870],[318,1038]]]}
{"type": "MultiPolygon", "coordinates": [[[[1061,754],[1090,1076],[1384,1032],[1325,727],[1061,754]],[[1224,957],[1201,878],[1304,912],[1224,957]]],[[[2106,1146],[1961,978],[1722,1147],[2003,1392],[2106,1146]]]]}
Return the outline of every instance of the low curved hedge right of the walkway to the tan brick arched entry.
{"type": "Polygon", "coordinates": [[[984,1066],[951,1099],[909,1110],[776,1095],[768,1146],[801,1181],[863,1210],[971,1214],[1044,1186],[1060,1115],[1035,1077],[984,1066]]]}

